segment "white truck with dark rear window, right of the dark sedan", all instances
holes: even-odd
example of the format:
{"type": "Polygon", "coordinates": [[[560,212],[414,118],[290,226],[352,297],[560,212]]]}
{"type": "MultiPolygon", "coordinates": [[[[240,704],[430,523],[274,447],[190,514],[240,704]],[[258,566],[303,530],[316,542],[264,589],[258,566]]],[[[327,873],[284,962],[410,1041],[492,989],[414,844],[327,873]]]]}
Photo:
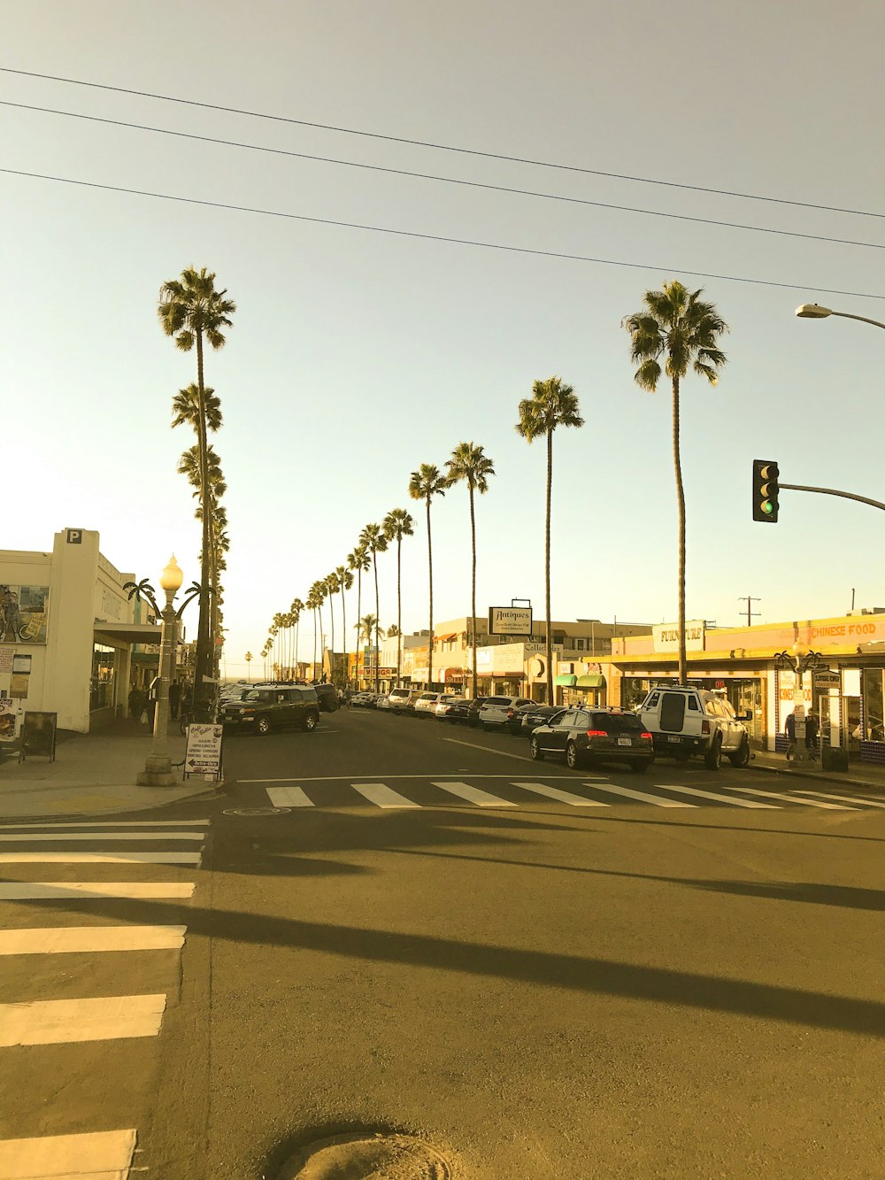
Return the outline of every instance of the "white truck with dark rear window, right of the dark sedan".
{"type": "Polygon", "coordinates": [[[717,771],[725,754],[732,766],[749,762],[749,738],[730,701],[706,688],[653,684],[636,710],[655,743],[655,754],[683,762],[701,754],[717,771]]]}

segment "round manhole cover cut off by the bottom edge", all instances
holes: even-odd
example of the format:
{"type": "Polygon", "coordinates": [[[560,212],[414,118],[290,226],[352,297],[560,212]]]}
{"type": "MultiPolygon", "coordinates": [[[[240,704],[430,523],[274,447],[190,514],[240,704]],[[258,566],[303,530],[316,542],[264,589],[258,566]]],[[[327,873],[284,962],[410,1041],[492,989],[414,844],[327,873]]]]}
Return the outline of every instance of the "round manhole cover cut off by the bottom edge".
{"type": "Polygon", "coordinates": [[[414,1135],[337,1135],[310,1143],[280,1180],[451,1180],[439,1152],[414,1135]]]}

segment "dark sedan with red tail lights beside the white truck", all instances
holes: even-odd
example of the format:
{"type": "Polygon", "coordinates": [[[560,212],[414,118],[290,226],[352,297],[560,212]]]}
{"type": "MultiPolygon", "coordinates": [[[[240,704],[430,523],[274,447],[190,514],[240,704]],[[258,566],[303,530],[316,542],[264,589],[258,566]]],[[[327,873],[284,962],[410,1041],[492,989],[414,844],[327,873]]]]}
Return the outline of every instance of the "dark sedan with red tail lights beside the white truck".
{"type": "Polygon", "coordinates": [[[576,769],[590,762],[627,762],[642,773],[655,760],[651,734],[635,713],[611,707],[565,709],[531,736],[532,758],[565,758],[576,769]]]}

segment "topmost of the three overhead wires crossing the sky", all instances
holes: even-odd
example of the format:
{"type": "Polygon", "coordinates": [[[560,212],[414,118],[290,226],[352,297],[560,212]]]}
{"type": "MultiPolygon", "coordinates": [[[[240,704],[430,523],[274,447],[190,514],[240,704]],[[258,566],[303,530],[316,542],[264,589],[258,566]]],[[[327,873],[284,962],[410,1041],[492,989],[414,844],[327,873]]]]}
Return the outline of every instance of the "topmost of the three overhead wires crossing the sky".
{"type": "Polygon", "coordinates": [[[176,98],[170,94],[155,94],[146,90],[129,90],[125,86],[107,86],[98,81],[85,81],[80,78],[63,78],[58,74],[37,73],[33,70],[13,70],[0,66],[0,73],[19,74],[24,78],[42,78],[47,81],[61,81],[70,86],[87,86],[92,90],[106,90],[116,94],[135,94],[138,98],[153,98],[163,103],[179,103],[183,106],[198,106],[205,111],[223,111],[225,114],[245,114],[253,119],[268,119],[273,123],[290,123],[301,127],[315,127],[320,131],[335,131],[340,135],[362,136],[368,139],[381,139],[386,143],[408,144],[413,148],[432,148],[434,151],[458,152],[463,156],[477,156],[484,159],[502,159],[511,164],[531,164],[533,168],[552,168],[564,172],[581,172],[585,176],[604,176],[614,181],[630,181],[635,184],[660,184],[668,189],[687,189],[691,192],[712,192],[721,197],[740,197],[745,201],[767,201],[778,205],[793,205],[799,209],[820,209],[826,212],[852,214],[857,217],[883,217],[885,214],[871,212],[866,209],[844,209],[839,205],[818,205],[807,201],[789,201],[785,197],[768,197],[755,192],[735,192],[729,189],[710,189],[700,184],[678,184],[675,181],[658,181],[648,176],[627,176],[623,172],[603,172],[595,168],[578,168],[575,164],[557,164],[551,160],[530,159],[523,156],[505,156],[502,152],[478,151],[473,148],[458,148],[453,144],[438,144],[426,139],[406,139],[402,136],[385,136],[376,131],[360,131],[355,127],[339,127],[329,123],[312,123],[308,119],[293,119],[283,114],[267,114],[263,111],[247,111],[236,106],[219,106],[216,103],[197,103],[190,98],[176,98]]]}

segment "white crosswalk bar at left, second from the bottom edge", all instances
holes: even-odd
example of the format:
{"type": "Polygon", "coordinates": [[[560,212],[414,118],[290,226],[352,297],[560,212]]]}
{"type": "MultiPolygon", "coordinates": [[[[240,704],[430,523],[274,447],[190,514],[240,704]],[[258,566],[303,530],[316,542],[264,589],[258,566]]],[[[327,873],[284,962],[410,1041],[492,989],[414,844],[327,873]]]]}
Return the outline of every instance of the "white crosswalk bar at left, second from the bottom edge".
{"type": "Polygon", "coordinates": [[[165,1007],[162,992],[0,1004],[0,1045],[157,1036],[165,1007]]]}

